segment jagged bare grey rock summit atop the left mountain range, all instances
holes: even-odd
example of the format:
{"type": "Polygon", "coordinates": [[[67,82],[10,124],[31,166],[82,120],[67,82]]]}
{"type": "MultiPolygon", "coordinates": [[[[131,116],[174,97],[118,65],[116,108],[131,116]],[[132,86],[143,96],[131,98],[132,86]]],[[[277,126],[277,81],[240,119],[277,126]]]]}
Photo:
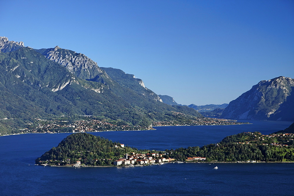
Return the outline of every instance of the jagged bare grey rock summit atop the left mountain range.
{"type": "Polygon", "coordinates": [[[37,52],[46,58],[66,67],[69,72],[83,80],[93,82],[102,82],[103,84],[113,85],[110,77],[98,67],[97,63],[82,53],[76,53],[72,50],[55,48],[39,49],[37,52]]]}

